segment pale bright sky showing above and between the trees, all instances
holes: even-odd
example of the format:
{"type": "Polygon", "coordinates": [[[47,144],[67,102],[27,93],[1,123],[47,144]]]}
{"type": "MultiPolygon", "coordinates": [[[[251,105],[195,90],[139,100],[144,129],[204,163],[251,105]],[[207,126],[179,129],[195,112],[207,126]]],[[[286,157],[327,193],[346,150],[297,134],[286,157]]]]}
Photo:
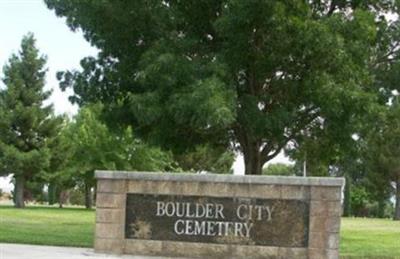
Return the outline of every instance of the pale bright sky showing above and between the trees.
{"type": "MultiPolygon", "coordinates": [[[[76,114],[78,107],[68,101],[70,93],[63,93],[58,87],[57,71],[79,69],[83,57],[95,56],[98,50],[92,47],[80,31],[72,32],[64,18],[57,17],[47,9],[42,0],[0,0],[0,68],[13,53],[17,53],[21,39],[32,32],[37,39],[36,47],[47,56],[47,89],[52,89],[50,102],[57,114],[76,114]]],[[[3,77],[2,69],[0,77],[3,77]]],[[[0,82],[0,87],[4,87],[0,82]]],[[[272,162],[288,162],[283,154],[272,162]]],[[[244,173],[243,158],[238,156],[234,164],[235,174],[244,173]]],[[[9,191],[10,179],[0,177],[0,188],[9,191]]]]}

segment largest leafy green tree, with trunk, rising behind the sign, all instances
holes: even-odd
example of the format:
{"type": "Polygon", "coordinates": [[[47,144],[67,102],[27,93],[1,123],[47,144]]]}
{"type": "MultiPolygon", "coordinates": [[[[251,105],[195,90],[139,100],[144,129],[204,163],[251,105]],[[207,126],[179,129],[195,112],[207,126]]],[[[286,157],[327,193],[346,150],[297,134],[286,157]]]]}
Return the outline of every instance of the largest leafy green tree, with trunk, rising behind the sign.
{"type": "Polygon", "coordinates": [[[72,101],[175,153],[237,149],[246,174],[304,134],[351,141],[398,49],[395,1],[45,2],[100,49],[59,74],[72,101]]]}

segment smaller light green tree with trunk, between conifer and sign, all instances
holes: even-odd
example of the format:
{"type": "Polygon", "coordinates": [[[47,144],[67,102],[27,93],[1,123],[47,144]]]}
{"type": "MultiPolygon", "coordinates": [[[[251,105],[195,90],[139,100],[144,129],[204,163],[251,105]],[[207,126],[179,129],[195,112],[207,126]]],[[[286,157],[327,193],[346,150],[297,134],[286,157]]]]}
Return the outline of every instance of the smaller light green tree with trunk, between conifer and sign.
{"type": "Polygon", "coordinates": [[[83,189],[87,208],[92,206],[91,190],[95,187],[94,171],[97,169],[175,169],[170,154],[159,148],[149,147],[135,138],[130,127],[118,132],[111,131],[99,120],[102,109],[99,104],[81,108],[51,145],[54,153],[51,160],[53,170],[48,173],[47,179],[59,192],[72,187],[83,189]]]}

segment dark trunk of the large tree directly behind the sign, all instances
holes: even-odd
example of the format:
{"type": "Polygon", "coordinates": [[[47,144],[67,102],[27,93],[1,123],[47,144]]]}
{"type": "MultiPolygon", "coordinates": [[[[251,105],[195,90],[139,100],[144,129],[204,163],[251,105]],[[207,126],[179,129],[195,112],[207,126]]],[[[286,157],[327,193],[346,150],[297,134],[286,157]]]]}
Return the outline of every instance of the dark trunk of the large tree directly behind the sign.
{"type": "Polygon", "coordinates": [[[244,156],[244,174],[245,175],[261,175],[262,162],[260,146],[257,143],[247,145],[243,152],[244,156]]]}

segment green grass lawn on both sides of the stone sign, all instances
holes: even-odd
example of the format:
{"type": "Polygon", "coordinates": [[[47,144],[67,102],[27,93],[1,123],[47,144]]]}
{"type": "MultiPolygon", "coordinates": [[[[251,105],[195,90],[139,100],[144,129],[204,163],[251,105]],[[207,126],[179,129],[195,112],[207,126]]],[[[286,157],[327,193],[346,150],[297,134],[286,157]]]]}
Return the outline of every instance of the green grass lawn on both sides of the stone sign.
{"type": "MultiPolygon", "coordinates": [[[[91,247],[94,210],[0,206],[0,242],[91,247]]],[[[400,222],[343,218],[341,256],[400,258],[400,222]]]]}

